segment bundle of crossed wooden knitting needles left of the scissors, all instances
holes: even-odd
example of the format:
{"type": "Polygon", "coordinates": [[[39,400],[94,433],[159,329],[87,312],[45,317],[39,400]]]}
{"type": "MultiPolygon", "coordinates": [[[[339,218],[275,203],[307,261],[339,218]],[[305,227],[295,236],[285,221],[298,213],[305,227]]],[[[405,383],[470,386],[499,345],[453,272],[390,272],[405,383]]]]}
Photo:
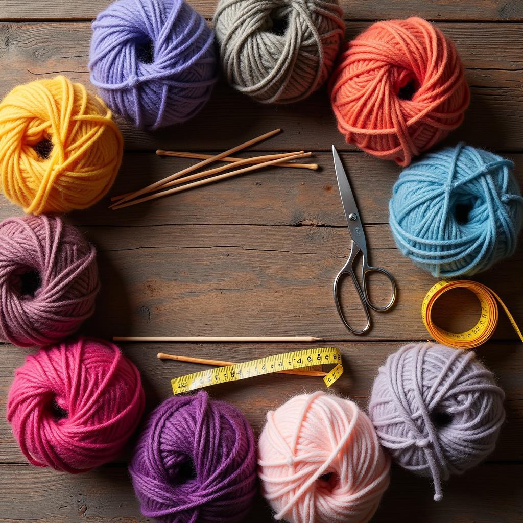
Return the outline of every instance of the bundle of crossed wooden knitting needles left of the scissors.
{"type": "Polygon", "coordinates": [[[314,163],[294,163],[292,160],[298,160],[299,158],[306,158],[312,155],[310,152],[304,152],[304,151],[295,151],[293,153],[279,153],[279,154],[265,154],[261,156],[254,156],[251,158],[237,158],[230,156],[238,151],[241,151],[242,149],[245,149],[246,147],[249,147],[251,145],[254,145],[258,142],[261,142],[263,140],[266,140],[267,138],[270,138],[274,136],[275,134],[279,133],[281,129],[275,129],[273,131],[269,131],[265,134],[261,134],[260,136],[253,138],[252,140],[248,140],[247,142],[241,143],[240,145],[236,145],[235,147],[232,147],[232,149],[228,149],[227,151],[223,151],[222,153],[215,154],[215,155],[209,155],[209,154],[196,154],[196,153],[186,153],[186,152],[179,152],[179,151],[164,151],[161,149],[158,149],[156,151],[156,154],[159,156],[176,156],[176,157],[183,157],[183,158],[201,158],[202,160],[194,165],[191,165],[190,167],[187,167],[185,169],[182,169],[178,171],[177,173],[174,173],[170,176],[167,176],[163,178],[162,180],[158,180],[153,184],[147,185],[146,187],[134,191],[134,192],[128,192],[126,194],[120,195],[120,196],[114,196],[111,198],[112,203],[109,206],[109,209],[117,210],[117,209],[123,209],[124,207],[130,207],[132,205],[135,205],[137,203],[142,203],[144,201],[154,200],[156,198],[162,198],[163,196],[175,194],[176,192],[185,191],[187,189],[192,189],[194,187],[199,187],[201,185],[207,185],[210,183],[213,183],[214,181],[223,180],[225,178],[231,178],[233,176],[237,176],[240,174],[248,173],[253,170],[262,169],[264,167],[270,167],[272,165],[278,165],[281,167],[298,167],[298,168],[305,168],[305,169],[317,169],[318,165],[314,163]],[[200,169],[201,167],[205,167],[213,162],[228,162],[225,165],[222,165],[220,167],[214,167],[212,169],[206,169],[199,173],[195,173],[189,176],[189,173],[200,169]],[[244,165],[248,165],[247,167],[243,167],[244,165]],[[237,168],[236,167],[240,167],[237,168]],[[223,173],[223,174],[217,174],[221,173],[222,171],[229,170],[231,168],[234,168],[231,172],[223,173]],[[216,175],[216,176],[213,176],[216,175]],[[193,181],[198,180],[198,181],[193,181]],[[178,187],[173,187],[178,186],[178,187]],[[170,188],[169,187],[173,187],[170,188]],[[154,192],[158,191],[158,192],[154,192]],[[149,194],[152,193],[152,194],[149,194]],[[147,196],[144,196],[147,195],[147,196]]]}

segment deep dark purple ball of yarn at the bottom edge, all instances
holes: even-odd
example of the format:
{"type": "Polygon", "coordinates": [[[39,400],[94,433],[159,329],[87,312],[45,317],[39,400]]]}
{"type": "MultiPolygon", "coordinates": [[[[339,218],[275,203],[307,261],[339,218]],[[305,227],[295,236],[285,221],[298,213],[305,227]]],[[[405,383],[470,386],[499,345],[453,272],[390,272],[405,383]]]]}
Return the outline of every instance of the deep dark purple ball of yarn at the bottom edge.
{"type": "Polygon", "coordinates": [[[129,472],[146,517],[234,523],[256,493],[253,431],[240,411],[206,392],[174,396],[147,420],[129,472]]]}

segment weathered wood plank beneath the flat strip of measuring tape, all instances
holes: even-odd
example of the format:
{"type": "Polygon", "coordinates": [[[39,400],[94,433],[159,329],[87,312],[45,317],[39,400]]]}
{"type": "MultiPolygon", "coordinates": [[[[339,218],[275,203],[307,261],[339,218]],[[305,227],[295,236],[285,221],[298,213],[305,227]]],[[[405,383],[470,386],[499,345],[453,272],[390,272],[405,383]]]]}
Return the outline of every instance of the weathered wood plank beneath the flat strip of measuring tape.
{"type": "MultiPolygon", "coordinates": [[[[109,321],[109,319],[106,320],[106,322],[109,321]]],[[[238,323],[240,322],[238,321],[238,323]]],[[[345,369],[343,376],[333,385],[332,389],[338,394],[355,399],[362,408],[366,408],[379,366],[403,343],[370,343],[360,339],[354,343],[338,342],[330,345],[339,347],[345,369]]],[[[159,351],[203,358],[224,359],[226,357],[231,361],[248,361],[271,354],[285,353],[295,348],[305,349],[315,346],[312,344],[299,344],[298,346],[287,344],[121,344],[124,354],[138,366],[142,374],[147,411],[152,410],[172,395],[170,379],[208,368],[190,363],[159,361],[156,358],[159,351]]],[[[14,371],[22,364],[28,350],[12,346],[4,346],[2,350],[0,412],[5,412],[7,391],[14,371]]],[[[505,401],[507,423],[503,427],[498,446],[489,459],[490,461],[523,461],[523,448],[520,445],[521,438],[523,438],[523,384],[521,383],[523,350],[521,350],[521,344],[491,342],[478,349],[477,354],[495,373],[499,385],[507,394],[505,401]]],[[[208,391],[213,397],[236,405],[245,413],[256,434],[259,434],[265,424],[268,410],[277,408],[295,394],[322,389],[324,389],[324,384],[321,378],[272,375],[215,385],[208,391]]],[[[0,444],[2,446],[0,462],[24,461],[4,416],[0,418],[0,444]]],[[[128,455],[129,452],[126,452],[119,461],[127,459],[128,455]]],[[[35,474],[37,473],[38,471],[35,472],[35,474]]],[[[0,499],[2,499],[1,496],[0,499]]]]}

